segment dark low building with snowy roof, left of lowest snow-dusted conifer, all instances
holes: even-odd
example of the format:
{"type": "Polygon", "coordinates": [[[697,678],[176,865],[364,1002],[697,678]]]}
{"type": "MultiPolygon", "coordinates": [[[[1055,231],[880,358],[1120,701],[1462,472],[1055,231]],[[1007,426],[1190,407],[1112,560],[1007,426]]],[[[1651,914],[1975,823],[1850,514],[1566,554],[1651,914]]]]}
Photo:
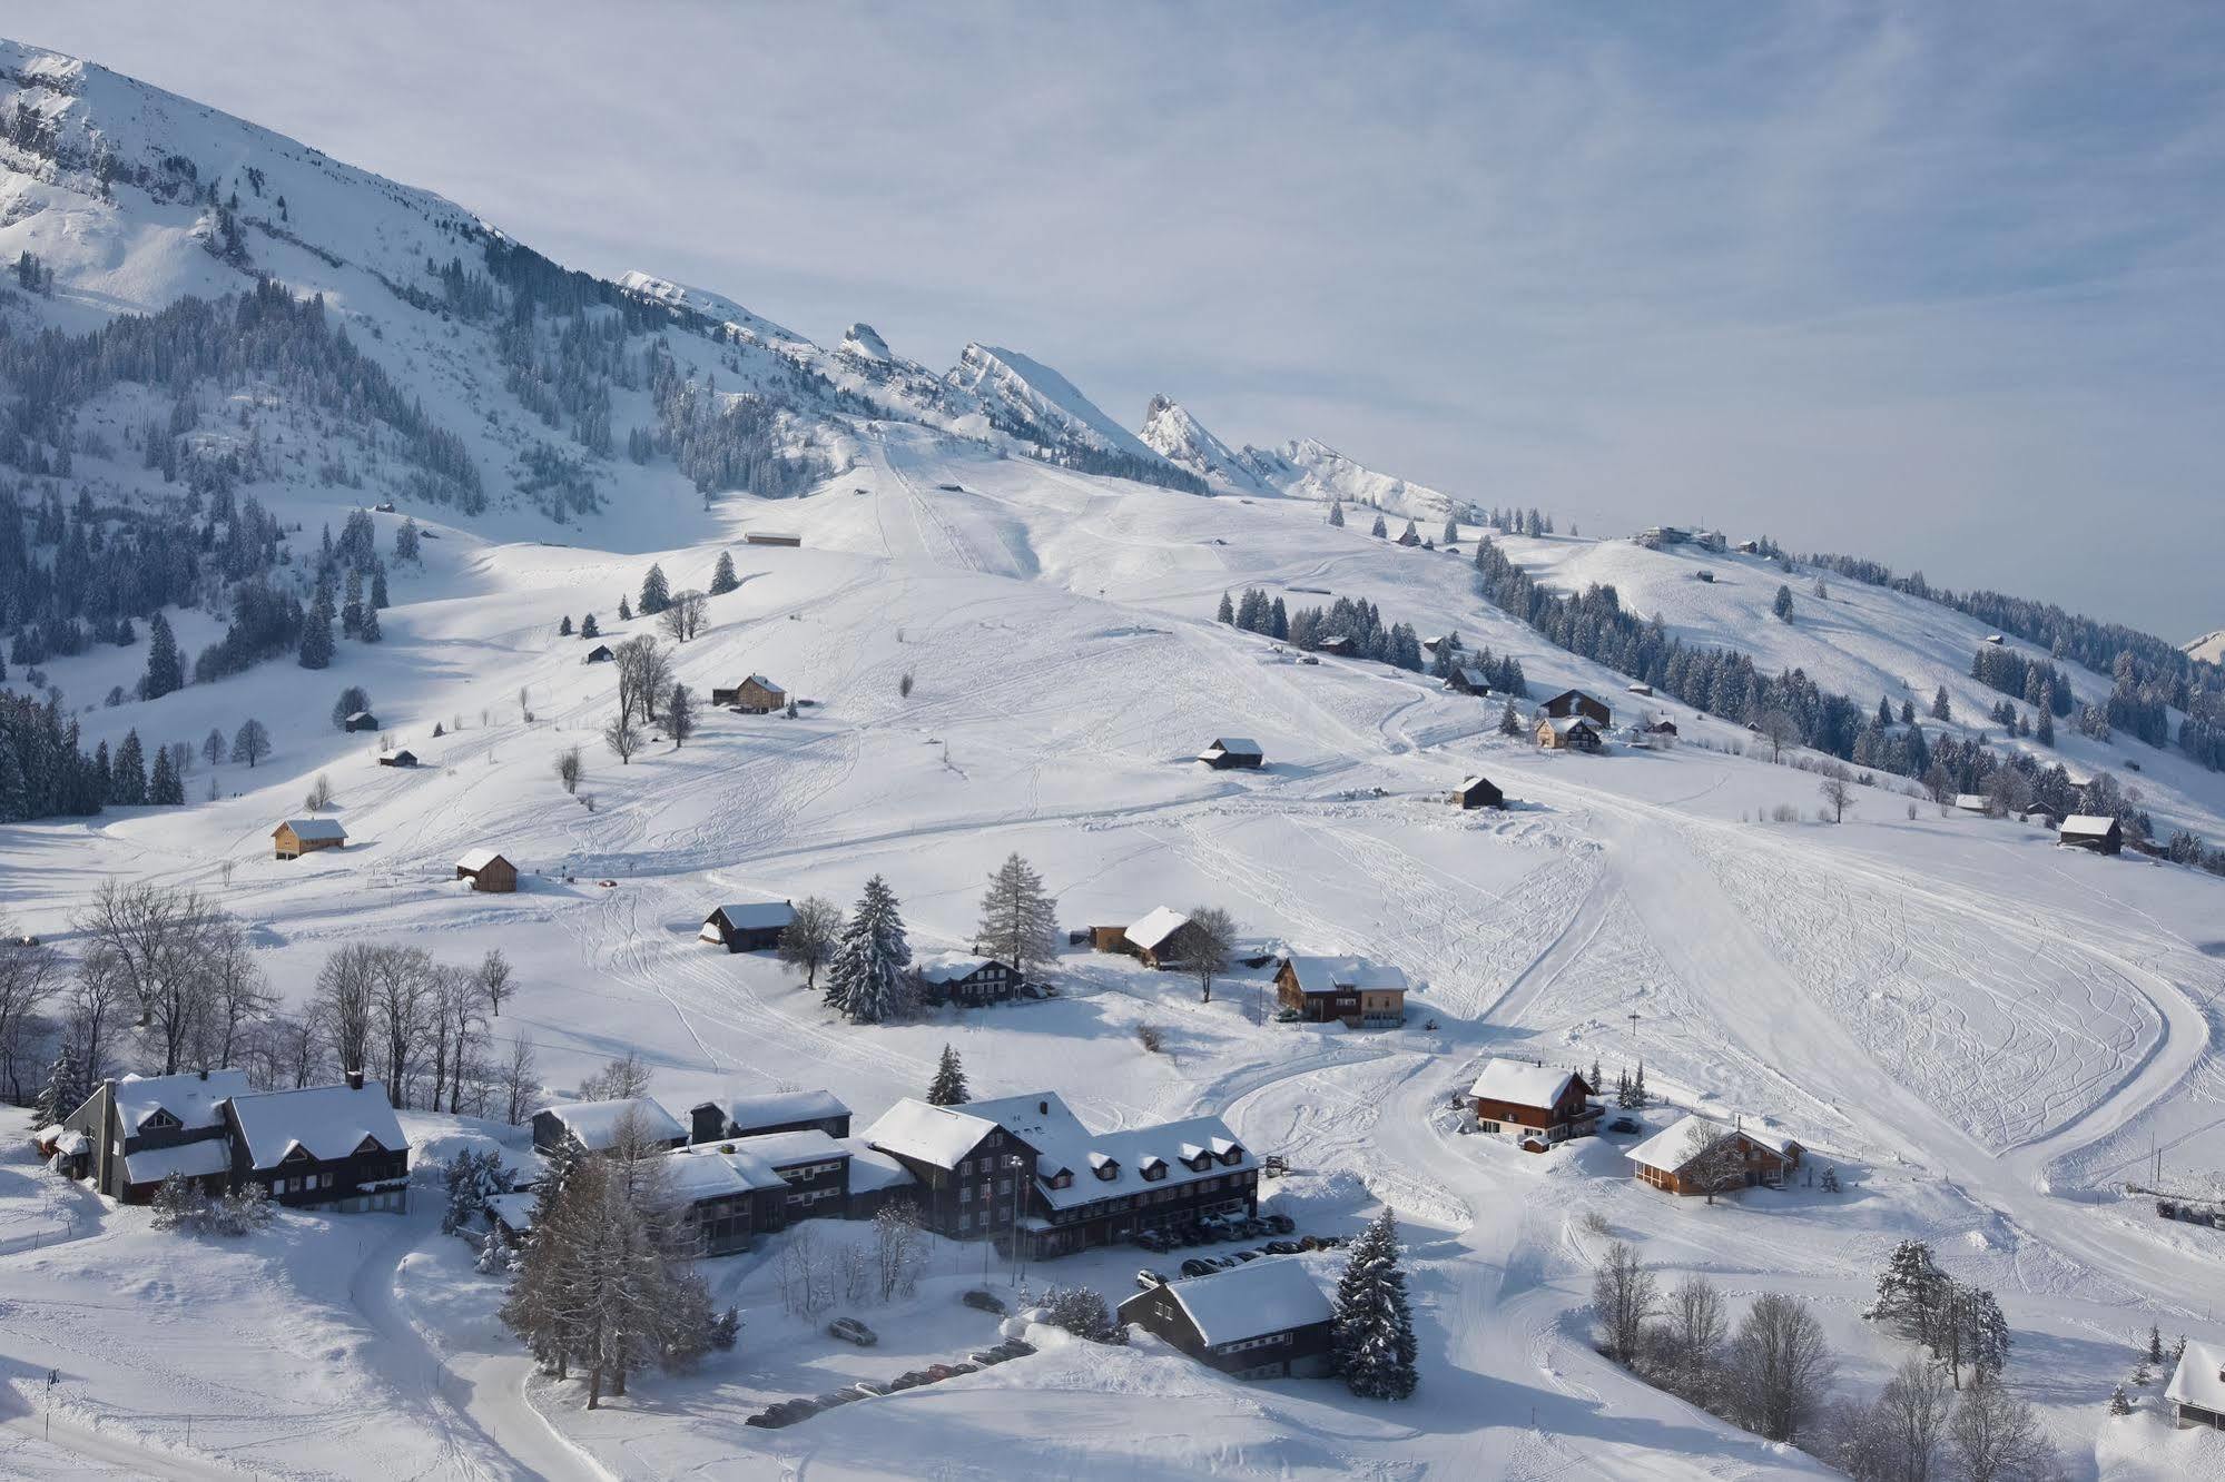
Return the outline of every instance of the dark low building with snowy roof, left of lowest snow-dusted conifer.
{"type": "Polygon", "coordinates": [[[1121,1302],[1119,1320],[1235,1380],[1322,1375],[1331,1369],[1335,1311],[1328,1293],[1293,1255],[1161,1282],[1121,1302]]]}

